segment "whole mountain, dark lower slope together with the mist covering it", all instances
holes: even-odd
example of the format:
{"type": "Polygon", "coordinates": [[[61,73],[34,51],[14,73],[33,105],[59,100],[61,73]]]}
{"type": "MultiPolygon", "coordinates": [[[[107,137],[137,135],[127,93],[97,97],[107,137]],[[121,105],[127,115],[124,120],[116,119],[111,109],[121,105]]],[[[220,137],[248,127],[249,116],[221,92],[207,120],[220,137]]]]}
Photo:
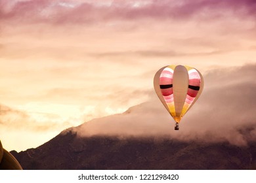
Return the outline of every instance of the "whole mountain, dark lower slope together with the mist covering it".
{"type": "Polygon", "coordinates": [[[256,65],[213,70],[180,130],[156,94],[24,152],[24,169],[255,169],[256,65]]]}

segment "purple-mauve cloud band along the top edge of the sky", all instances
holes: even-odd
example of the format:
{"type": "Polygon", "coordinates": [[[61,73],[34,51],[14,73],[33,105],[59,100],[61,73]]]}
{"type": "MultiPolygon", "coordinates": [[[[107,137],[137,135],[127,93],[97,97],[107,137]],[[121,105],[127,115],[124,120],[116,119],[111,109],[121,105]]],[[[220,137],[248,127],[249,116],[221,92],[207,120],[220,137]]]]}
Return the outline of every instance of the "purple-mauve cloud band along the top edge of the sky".
{"type": "Polygon", "coordinates": [[[226,12],[233,16],[255,17],[253,0],[228,1],[8,1],[1,2],[1,19],[53,24],[97,24],[110,20],[220,18],[226,12]]]}

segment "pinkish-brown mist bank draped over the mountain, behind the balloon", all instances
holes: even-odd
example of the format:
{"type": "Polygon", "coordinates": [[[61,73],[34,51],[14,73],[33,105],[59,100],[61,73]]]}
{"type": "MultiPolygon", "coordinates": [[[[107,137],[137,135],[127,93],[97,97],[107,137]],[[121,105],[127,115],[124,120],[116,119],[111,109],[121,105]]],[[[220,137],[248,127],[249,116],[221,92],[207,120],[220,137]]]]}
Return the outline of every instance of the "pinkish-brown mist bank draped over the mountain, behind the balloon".
{"type": "Polygon", "coordinates": [[[256,141],[255,69],[251,64],[207,73],[202,96],[182,119],[179,131],[174,131],[173,119],[154,92],[148,102],[123,114],[91,120],[73,130],[82,137],[169,136],[181,141],[227,141],[244,146],[256,141]]]}

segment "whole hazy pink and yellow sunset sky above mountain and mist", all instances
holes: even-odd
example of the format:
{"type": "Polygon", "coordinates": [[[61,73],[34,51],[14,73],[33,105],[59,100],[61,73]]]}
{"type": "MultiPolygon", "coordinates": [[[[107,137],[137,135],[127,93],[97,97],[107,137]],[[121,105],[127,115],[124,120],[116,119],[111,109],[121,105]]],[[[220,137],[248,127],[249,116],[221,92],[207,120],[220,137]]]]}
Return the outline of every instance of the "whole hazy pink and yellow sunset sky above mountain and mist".
{"type": "Polygon", "coordinates": [[[256,63],[255,12],[254,0],[1,0],[3,146],[36,147],[150,101],[165,65],[209,75],[256,63]]]}

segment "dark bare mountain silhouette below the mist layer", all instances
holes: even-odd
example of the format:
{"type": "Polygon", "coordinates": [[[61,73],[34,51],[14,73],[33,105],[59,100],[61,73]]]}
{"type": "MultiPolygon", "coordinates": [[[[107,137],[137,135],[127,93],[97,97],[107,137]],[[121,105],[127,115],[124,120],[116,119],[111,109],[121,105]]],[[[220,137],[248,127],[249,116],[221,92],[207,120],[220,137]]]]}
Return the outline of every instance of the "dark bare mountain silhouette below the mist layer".
{"type": "Polygon", "coordinates": [[[24,152],[24,169],[255,169],[256,143],[180,142],[167,137],[79,137],[72,129],[24,152]]]}

